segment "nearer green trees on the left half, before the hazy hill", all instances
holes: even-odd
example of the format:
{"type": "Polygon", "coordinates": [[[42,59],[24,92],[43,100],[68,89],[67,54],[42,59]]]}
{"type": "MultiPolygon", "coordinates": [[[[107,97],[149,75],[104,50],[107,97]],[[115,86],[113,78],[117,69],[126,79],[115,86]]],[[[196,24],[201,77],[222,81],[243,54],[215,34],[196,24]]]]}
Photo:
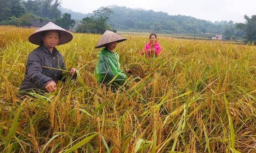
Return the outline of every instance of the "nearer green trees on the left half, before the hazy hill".
{"type": "MultiPolygon", "coordinates": [[[[0,0],[0,4],[0,25],[27,26],[33,19],[53,21],[64,29],[75,24],[70,13],[61,12],[59,0],[0,0]]],[[[110,8],[101,7],[93,13],[93,16],[81,20],[84,25],[78,27],[77,32],[103,33],[111,29],[107,24],[113,13],[110,8]]]]}

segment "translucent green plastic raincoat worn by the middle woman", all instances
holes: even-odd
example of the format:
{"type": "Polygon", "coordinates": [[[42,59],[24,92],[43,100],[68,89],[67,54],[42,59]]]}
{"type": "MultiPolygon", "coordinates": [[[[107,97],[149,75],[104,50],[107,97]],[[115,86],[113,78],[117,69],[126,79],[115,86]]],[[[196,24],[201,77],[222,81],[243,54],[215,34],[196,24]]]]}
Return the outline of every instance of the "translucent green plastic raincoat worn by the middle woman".
{"type": "Polygon", "coordinates": [[[99,51],[98,57],[98,62],[94,70],[94,75],[98,83],[107,84],[115,78],[113,83],[122,85],[127,80],[126,74],[120,69],[117,53],[113,52],[112,54],[107,48],[103,48],[99,51]]]}

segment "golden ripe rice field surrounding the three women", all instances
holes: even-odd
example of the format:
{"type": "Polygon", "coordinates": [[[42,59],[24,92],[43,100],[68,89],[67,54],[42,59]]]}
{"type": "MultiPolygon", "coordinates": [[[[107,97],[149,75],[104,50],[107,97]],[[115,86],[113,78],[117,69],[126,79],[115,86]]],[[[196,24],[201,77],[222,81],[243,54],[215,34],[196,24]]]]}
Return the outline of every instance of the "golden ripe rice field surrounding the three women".
{"type": "Polygon", "coordinates": [[[101,35],[74,33],[56,48],[78,78],[19,97],[34,31],[0,27],[0,153],[256,152],[255,46],[158,36],[162,53],[145,58],[148,35],[126,33],[121,67],[145,74],[113,93],[92,75],[101,35]]]}

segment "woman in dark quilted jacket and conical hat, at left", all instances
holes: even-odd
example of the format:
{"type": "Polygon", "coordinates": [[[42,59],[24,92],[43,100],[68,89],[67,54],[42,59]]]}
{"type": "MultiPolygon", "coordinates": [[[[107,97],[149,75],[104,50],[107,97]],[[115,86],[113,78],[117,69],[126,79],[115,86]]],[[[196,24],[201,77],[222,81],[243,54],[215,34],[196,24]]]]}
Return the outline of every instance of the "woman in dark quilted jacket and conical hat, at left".
{"type": "MultiPolygon", "coordinates": [[[[21,95],[29,92],[52,93],[56,84],[62,79],[61,70],[66,70],[62,54],[55,48],[70,42],[73,35],[65,29],[49,22],[32,33],[28,40],[36,49],[29,53],[26,72],[20,87],[21,95]]],[[[76,69],[70,70],[70,75],[76,76],[76,69]]]]}

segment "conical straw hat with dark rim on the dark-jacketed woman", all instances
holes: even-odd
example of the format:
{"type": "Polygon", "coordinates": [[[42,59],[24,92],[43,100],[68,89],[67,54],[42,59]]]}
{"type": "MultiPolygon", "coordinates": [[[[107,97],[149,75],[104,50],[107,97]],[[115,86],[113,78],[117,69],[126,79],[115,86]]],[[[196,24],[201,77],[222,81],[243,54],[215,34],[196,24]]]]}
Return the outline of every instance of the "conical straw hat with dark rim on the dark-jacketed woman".
{"type": "Polygon", "coordinates": [[[57,26],[53,22],[49,22],[46,25],[44,25],[42,28],[36,30],[34,33],[32,33],[28,40],[32,44],[41,45],[42,43],[42,32],[47,30],[58,30],[60,32],[60,42],[58,45],[66,44],[70,42],[73,39],[73,35],[71,32],[68,32],[67,30],[57,26]]]}

